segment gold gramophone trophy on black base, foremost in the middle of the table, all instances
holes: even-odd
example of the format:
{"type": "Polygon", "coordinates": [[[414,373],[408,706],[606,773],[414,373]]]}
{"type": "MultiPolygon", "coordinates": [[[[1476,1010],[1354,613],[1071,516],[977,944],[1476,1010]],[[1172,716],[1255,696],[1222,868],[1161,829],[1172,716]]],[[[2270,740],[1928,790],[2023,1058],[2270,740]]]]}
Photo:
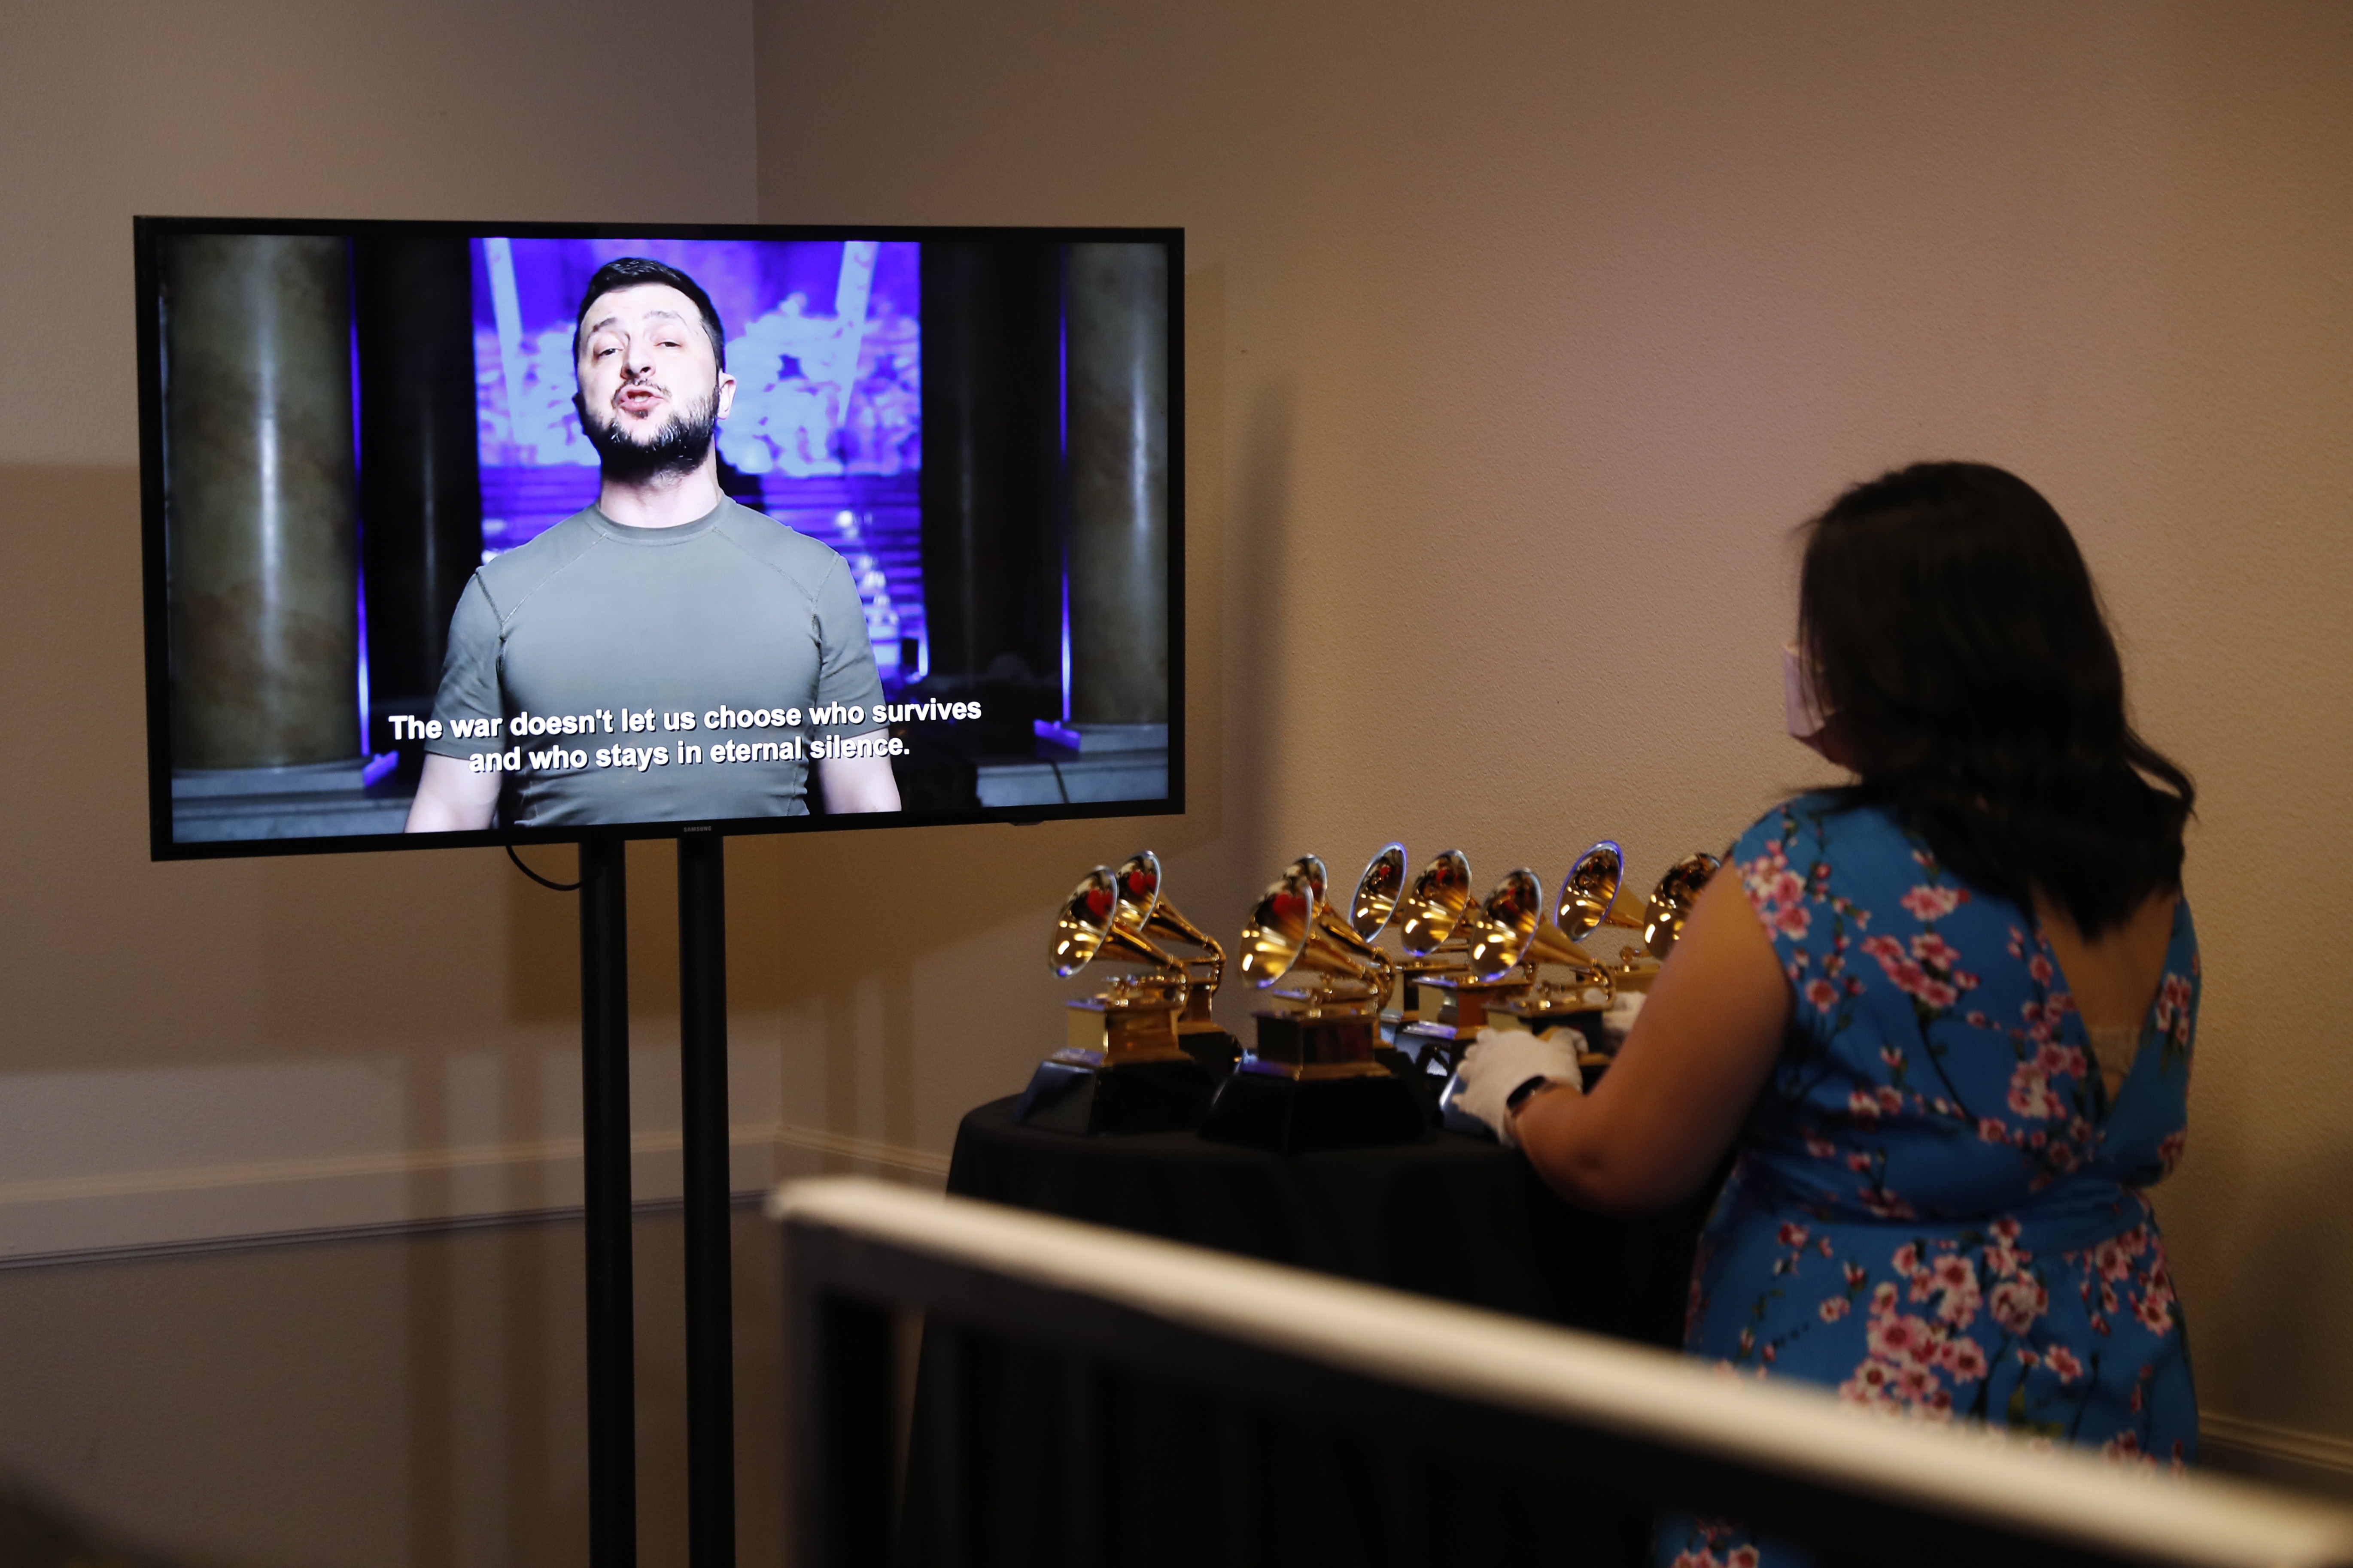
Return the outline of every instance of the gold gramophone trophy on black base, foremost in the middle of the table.
{"type": "Polygon", "coordinates": [[[1280,1154],[1421,1138],[1421,1098],[1379,1060],[1395,964],[1325,903],[1322,860],[1301,856],[1275,877],[1240,954],[1278,1006],[1254,1011],[1257,1034],[1200,1135],[1280,1154]]]}

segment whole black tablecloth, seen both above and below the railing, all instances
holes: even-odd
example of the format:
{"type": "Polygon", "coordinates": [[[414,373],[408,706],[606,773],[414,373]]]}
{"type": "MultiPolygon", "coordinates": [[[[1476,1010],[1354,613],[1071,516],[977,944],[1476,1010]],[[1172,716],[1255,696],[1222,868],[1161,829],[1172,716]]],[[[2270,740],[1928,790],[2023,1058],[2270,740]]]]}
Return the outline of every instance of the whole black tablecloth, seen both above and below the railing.
{"type": "MultiPolygon", "coordinates": [[[[1569,1208],[1499,1145],[1275,1157],[1193,1133],[1073,1138],[981,1105],[948,1190],[1249,1258],[1673,1345],[1706,1201],[1569,1208]]],[[[1607,1481],[1374,1443],[1071,1356],[925,1326],[899,1563],[1633,1568],[1649,1507],[1607,1481]]]]}

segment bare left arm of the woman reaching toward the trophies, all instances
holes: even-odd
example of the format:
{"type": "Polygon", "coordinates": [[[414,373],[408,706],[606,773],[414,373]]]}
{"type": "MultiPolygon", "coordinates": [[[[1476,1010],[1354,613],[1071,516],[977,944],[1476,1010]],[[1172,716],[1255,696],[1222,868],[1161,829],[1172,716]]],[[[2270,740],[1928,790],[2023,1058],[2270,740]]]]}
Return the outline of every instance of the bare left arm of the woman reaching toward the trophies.
{"type": "Polygon", "coordinates": [[[1513,1133],[1572,1204],[1609,1213],[1678,1204],[1732,1147],[1788,1018],[1781,959],[1727,867],[1692,907],[1593,1093],[1537,1093],[1513,1117],[1513,1133]]]}

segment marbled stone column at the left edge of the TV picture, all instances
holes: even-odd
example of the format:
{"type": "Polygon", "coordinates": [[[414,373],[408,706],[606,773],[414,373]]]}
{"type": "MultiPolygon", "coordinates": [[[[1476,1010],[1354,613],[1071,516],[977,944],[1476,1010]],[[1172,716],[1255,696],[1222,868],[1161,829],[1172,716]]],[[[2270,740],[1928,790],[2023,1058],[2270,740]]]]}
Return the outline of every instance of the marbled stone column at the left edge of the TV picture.
{"type": "Polygon", "coordinates": [[[167,242],[165,494],[174,769],[355,759],[344,240],[167,242]]]}

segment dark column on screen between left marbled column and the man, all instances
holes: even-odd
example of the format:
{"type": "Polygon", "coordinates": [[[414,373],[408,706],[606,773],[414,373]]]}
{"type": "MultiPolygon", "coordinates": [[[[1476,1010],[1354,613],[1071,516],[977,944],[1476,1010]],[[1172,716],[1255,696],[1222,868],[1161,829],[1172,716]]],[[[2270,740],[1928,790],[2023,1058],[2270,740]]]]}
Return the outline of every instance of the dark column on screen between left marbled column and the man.
{"type": "Polygon", "coordinates": [[[431,715],[449,614],[482,564],[473,254],[464,235],[369,235],[353,240],[351,280],[374,752],[393,745],[391,715],[431,715]]]}

